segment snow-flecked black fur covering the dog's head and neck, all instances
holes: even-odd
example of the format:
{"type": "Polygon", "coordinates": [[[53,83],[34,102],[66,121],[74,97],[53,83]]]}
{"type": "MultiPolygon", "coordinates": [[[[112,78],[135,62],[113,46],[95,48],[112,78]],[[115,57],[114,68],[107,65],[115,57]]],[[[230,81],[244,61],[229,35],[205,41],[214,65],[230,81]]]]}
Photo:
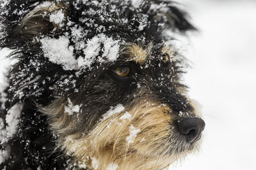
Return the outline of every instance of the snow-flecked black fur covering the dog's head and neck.
{"type": "MultiPolygon", "coordinates": [[[[1,117],[5,118],[6,111],[14,104],[24,103],[19,131],[12,139],[9,139],[8,143],[3,144],[3,146],[11,145],[12,152],[10,159],[1,164],[1,169],[77,168],[68,164],[68,162],[72,162],[72,157],[63,154],[61,150],[56,150],[56,136],[51,132],[47,116],[38,111],[38,106],[47,106],[54,99],[70,97],[74,104],[83,104],[84,114],[79,115],[81,122],[77,124],[76,129],[70,129],[69,134],[90,131],[102,117],[102,113],[109,110],[109,106],[115,106],[118,103],[128,106],[138,96],[150,96],[156,101],[166,103],[175,113],[179,113],[179,111],[193,112],[193,108],[186,98],[177,91],[178,87],[184,87],[179,81],[179,74],[182,73],[179,61],[166,64],[161,60],[161,48],[165,41],[171,39],[162,36],[161,33],[164,29],[170,28],[173,32],[180,34],[195,30],[193,25],[188,22],[186,13],[179,10],[175,3],[164,0],[145,1],[140,9],[134,9],[130,1],[102,1],[104,6],[100,7],[89,1],[86,4],[83,4],[82,1],[63,1],[63,3],[69,4],[65,10],[67,10],[68,20],[72,22],[70,27],[79,25],[88,31],[84,39],[104,33],[108,37],[119,39],[123,45],[141,43],[141,45],[147,46],[152,41],[154,43],[152,57],[143,67],[132,61],[127,62],[127,56],[121,55],[115,62],[104,64],[95,62],[92,69],[85,68],[79,72],[63,70],[60,65],[54,64],[44,57],[40,43],[30,43],[35,37],[40,36],[58,38],[64,34],[71,35],[70,27],[64,27],[56,32],[53,31],[54,26],[49,20],[37,18],[38,22],[45,25],[45,28],[40,30],[37,35],[28,34],[25,29],[22,29],[23,32],[15,32],[22,19],[35,6],[43,2],[12,0],[1,9],[3,29],[0,35],[0,48],[12,49],[13,52],[9,57],[19,60],[8,75],[10,80],[10,86],[6,89],[8,101],[5,103],[6,109],[1,110],[1,117]],[[167,4],[168,11],[164,15],[159,15],[162,13],[161,9],[150,10],[151,3],[167,4]],[[115,11],[111,11],[113,6],[116,6],[115,11]],[[83,13],[90,8],[99,11],[93,16],[83,13]],[[148,26],[140,30],[140,18],[143,14],[148,15],[148,26]],[[100,16],[111,18],[111,20],[100,20],[100,16]],[[127,19],[127,23],[120,22],[122,18],[127,19]],[[82,19],[90,20],[92,25],[86,25],[81,22],[82,19]],[[103,25],[106,30],[95,29],[97,25],[103,25]],[[159,64],[163,67],[159,67],[159,64]],[[148,67],[146,67],[147,65],[148,67]],[[126,79],[116,77],[113,69],[118,66],[131,67],[132,75],[126,79]],[[79,76],[77,76],[78,72],[79,76]],[[173,81],[170,81],[168,75],[172,75],[173,81]],[[72,77],[70,78],[70,76],[72,77]],[[63,83],[66,78],[70,81],[63,83]],[[36,81],[33,83],[24,83],[24,80],[35,79],[36,81]],[[141,93],[137,88],[138,83],[142,88],[148,87],[151,93],[141,93]],[[88,119],[93,120],[92,124],[88,124],[88,119]]],[[[99,2],[101,1],[99,0],[99,2]]],[[[76,58],[83,56],[79,50],[74,53],[76,58]]]]}

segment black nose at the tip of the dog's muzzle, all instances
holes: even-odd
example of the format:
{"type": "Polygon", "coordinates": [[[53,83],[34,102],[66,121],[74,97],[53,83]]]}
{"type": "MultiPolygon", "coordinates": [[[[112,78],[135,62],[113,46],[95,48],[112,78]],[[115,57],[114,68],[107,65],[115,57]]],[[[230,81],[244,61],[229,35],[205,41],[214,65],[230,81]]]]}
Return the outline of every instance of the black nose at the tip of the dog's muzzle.
{"type": "Polygon", "coordinates": [[[188,143],[193,143],[201,138],[205,122],[202,118],[180,118],[177,120],[177,127],[180,134],[186,136],[188,143]]]}

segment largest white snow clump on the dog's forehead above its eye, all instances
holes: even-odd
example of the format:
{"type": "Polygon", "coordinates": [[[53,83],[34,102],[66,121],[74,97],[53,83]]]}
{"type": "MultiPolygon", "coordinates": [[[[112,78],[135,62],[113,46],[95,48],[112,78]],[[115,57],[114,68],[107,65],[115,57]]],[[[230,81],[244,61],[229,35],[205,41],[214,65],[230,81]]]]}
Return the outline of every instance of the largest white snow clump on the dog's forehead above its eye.
{"type": "MultiPolygon", "coordinates": [[[[74,37],[83,37],[81,36],[81,32],[82,30],[72,29],[74,37]]],[[[51,62],[60,64],[65,70],[77,70],[81,67],[91,67],[100,54],[100,45],[102,44],[104,48],[102,56],[98,57],[99,62],[115,61],[118,58],[120,48],[119,41],[108,38],[104,34],[99,34],[89,39],[86,44],[79,41],[76,42],[76,46],[80,48],[84,46],[84,57],[75,59],[74,46],[69,45],[70,41],[66,36],[61,36],[58,39],[45,37],[40,39],[40,42],[42,43],[44,56],[51,62]]]]}

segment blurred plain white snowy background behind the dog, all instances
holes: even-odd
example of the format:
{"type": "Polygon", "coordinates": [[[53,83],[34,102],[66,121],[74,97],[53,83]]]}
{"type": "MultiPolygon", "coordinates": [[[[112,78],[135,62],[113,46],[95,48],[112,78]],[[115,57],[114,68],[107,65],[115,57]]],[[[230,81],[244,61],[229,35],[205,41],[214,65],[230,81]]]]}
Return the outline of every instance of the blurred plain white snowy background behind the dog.
{"type": "MultiPolygon", "coordinates": [[[[200,152],[170,169],[256,169],[256,1],[181,2],[200,29],[180,48],[188,49],[193,69],[184,79],[206,128],[200,152]]],[[[7,54],[0,51],[0,81],[7,54]]]]}

